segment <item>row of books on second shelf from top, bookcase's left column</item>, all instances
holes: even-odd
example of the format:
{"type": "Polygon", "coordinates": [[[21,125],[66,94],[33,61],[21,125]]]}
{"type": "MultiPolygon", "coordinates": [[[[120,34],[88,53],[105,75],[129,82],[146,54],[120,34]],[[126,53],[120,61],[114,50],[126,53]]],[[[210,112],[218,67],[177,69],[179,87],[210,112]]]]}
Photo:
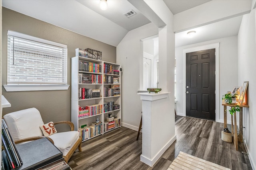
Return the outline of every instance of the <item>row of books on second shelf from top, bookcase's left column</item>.
{"type": "Polygon", "coordinates": [[[78,73],[80,84],[102,84],[102,75],[78,73]]]}

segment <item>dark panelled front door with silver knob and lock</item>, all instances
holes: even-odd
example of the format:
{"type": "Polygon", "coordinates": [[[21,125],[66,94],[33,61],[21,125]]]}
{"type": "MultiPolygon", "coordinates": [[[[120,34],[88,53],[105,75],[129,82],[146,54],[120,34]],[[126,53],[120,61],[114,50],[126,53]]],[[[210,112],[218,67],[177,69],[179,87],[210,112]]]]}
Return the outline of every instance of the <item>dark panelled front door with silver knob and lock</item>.
{"type": "Polygon", "coordinates": [[[215,120],[215,49],[186,53],[186,115],[215,120]]]}

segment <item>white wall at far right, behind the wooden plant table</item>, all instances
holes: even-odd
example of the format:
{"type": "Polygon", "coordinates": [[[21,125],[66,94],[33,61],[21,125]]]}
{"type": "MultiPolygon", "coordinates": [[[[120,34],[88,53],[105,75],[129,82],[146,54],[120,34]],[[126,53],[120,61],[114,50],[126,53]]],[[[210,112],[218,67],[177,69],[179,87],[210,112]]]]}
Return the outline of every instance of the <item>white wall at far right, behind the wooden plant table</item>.
{"type": "Polygon", "coordinates": [[[256,12],[243,16],[238,33],[238,82],[249,81],[248,105],[244,108],[244,136],[253,169],[256,168],[256,12]]]}

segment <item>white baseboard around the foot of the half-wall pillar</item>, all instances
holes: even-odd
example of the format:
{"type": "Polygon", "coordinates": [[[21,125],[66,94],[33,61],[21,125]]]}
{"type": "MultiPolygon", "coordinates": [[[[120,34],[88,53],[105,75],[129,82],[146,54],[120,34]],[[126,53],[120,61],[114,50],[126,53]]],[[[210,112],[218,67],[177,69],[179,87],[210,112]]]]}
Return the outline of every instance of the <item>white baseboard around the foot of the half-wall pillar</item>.
{"type": "Polygon", "coordinates": [[[140,161],[144,162],[145,164],[147,164],[148,166],[153,166],[157,160],[162,156],[162,154],[172,145],[172,143],[176,140],[176,135],[170,139],[170,141],[168,141],[166,143],[166,145],[164,145],[164,147],[162,147],[161,150],[159,150],[159,152],[156,154],[156,156],[150,160],[150,158],[147,158],[145,156],[143,156],[142,154],[140,155],[140,161]]]}

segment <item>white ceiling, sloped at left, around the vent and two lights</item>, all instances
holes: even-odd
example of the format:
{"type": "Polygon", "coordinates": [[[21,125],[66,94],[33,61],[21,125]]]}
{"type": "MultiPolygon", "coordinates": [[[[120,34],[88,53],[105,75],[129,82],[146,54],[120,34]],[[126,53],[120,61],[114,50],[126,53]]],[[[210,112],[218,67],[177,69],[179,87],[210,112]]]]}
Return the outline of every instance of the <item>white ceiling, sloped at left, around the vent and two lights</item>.
{"type": "MultiPolygon", "coordinates": [[[[173,14],[210,0],[163,0],[173,14]]],[[[150,23],[127,0],[108,0],[108,9],[99,8],[100,0],[2,0],[2,6],[81,35],[117,46],[128,31],[150,23]],[[136,15],[123,14],[134,10],[136,15]]],[[[196,36],[176,33],[176,47],[237,35],[242,16],[195,28],[196,36]]]]}

